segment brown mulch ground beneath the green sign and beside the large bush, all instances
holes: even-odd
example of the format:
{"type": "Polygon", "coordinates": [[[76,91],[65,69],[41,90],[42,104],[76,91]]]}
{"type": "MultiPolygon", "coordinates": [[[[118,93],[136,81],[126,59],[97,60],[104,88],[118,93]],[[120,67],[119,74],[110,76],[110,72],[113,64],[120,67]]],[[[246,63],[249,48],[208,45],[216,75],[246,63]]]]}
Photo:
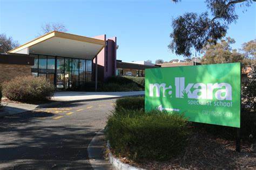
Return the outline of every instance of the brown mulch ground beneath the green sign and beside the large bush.
{"type": "Polygon", "coordinates": [[[123,162],[145,169],[256,169],[256,152],[242,141],[241,152],[235,151],[235,141],[217,138],[204,130],[193,131],[183,154],[169,161],[123,162]]]}

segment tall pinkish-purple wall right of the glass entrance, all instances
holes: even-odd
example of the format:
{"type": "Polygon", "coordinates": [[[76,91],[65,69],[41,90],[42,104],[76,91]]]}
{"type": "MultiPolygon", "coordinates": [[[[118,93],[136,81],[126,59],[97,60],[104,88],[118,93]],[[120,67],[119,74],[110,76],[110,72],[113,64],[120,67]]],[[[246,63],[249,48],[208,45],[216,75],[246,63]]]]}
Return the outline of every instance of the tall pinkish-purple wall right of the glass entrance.
{"type": "MultiPolygon", "coordinates": [[[[93,37],[105,40],[107,46],[97,55],[98,58],[98,81],[105,81],[107,77],[116,75],[117,38],[106,38],[106,35],[93,37]]],[[[95,59],[93,60],[95,63],[95,59]]],[[[94,66],[95,71],[95,66],[94,66]]]]}

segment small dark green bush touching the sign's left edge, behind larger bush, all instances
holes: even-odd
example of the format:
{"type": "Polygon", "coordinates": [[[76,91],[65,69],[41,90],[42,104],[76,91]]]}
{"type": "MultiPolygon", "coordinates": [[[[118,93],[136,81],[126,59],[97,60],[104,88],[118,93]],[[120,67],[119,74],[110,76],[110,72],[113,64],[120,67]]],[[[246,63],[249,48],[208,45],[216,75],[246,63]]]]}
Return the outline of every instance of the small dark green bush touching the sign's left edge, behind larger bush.
{"type": "Polygon", "coordinates": [[[121,111],[122,109],[144,110],[144,107],[145,107],[144,97],[124,97],[124,98],[119,98],[116,101],[115,109],[116,111],[121,111]]]}

